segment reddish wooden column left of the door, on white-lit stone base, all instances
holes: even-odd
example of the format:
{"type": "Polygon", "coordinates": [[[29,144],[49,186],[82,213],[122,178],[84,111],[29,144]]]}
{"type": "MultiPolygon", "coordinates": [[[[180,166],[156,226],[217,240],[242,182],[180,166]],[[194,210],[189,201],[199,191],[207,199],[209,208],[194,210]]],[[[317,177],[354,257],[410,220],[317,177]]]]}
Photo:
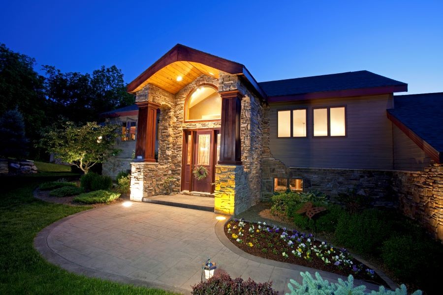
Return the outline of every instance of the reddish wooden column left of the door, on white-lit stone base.
{"type": "Polygon", "coordinates": [[[160,105],[151,101],[136,102],[136,104],[138,106],[138,127],[135,159],[155,162],[157,109],[160,105]]]}

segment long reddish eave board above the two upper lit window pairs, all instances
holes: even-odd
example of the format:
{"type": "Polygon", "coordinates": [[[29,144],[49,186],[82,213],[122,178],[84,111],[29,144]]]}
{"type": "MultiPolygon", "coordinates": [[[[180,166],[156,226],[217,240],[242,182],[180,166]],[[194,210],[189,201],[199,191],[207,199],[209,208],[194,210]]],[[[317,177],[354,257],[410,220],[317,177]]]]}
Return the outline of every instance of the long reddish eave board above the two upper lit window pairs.
{"type": "Polygon", "coordinates": [[[383,86],[383,87],[371,87],[371,88],[359,88],[359,89],[335,90],[335,91],[311,92],[311,93],[280,95],[280,96],[268,96],[268,102],[270,102],[270,103],[272,103],[272,102],[290,102],[290,101],[311,100],[311,99],[380,95],[380,94],[388,94],[388,93],[404,92],[404,91],[408,91],[408,84],[383,86]]]}

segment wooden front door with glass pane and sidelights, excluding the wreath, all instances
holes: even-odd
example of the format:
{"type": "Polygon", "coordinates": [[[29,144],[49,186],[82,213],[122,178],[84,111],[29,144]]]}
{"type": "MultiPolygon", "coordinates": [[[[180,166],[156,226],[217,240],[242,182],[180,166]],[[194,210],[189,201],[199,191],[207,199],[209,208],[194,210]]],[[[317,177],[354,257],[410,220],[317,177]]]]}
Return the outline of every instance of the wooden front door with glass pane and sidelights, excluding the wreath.
{"type": "Polygon", "coordinates": [[[214,192],[214,173],[220,150],[219,130],[187,130],[183,134],[182,190],[214,192]],[[192,174],[197,167],[208,171],[207,177],[198,179],[192,174]]]}

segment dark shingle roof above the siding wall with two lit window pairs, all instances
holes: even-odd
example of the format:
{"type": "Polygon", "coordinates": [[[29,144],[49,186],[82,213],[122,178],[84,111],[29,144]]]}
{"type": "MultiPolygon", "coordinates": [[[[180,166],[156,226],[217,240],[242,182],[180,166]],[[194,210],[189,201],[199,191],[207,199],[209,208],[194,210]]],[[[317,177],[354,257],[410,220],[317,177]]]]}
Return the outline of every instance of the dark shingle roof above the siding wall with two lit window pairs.
{"type": "Polygon", "coordinates": [[[277,80],[258,84],[268,96],[407,85],[369,71],[277,80]]]}

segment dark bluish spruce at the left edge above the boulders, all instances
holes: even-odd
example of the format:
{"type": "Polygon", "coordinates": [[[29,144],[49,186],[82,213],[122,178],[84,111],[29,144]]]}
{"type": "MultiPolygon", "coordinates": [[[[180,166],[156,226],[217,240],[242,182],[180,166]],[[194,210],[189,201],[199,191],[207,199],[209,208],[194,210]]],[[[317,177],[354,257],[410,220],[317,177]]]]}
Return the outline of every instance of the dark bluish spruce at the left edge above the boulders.
{"type": "Polygon", "coordinates": [[[17,110],[6,111],[0,118],[0,156],[24,158],[28,155],[23,116],[17,110]]]}

